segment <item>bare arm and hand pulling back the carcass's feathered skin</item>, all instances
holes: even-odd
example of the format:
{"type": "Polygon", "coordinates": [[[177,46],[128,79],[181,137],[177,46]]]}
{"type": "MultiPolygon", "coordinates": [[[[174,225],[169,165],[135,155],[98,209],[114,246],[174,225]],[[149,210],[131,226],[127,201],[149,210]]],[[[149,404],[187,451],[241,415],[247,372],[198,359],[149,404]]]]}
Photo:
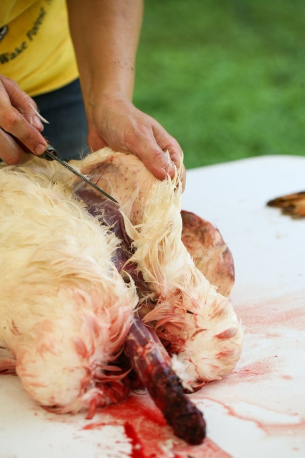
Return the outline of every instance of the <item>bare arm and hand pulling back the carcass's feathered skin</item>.
{"type": "Polygon", "coordinates": [[[142,0],[66,0],[92,151],[133,153],[157,178],[175,175],[182,150],[132,103],[142,0]]]}

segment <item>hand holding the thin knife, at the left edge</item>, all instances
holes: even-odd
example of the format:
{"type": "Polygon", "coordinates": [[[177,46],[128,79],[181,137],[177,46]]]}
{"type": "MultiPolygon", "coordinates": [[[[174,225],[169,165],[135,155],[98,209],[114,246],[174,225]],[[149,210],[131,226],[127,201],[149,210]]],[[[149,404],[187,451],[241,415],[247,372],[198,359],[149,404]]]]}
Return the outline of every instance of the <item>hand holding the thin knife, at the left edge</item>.
{"type": "Polygon", "coordinates": [[[46,150],[40,133],[44,127],[33,108],[37,110],[34,100],[14,80],[0,75],[0,158],[9,165],[25,162],[29,156],[7,132],[34,154],[46,150]]]}

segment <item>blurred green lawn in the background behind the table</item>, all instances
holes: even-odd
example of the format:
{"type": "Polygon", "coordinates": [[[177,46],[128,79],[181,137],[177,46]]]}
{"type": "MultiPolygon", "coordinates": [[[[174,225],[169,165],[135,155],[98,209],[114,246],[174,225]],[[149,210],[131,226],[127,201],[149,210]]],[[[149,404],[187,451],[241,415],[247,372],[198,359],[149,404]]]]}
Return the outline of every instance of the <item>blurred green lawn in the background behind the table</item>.
{"type": "Polygon", "coordinates": [[[146,0],[134,102],[187,168],[305,156],[305,1],[146,0]]]}

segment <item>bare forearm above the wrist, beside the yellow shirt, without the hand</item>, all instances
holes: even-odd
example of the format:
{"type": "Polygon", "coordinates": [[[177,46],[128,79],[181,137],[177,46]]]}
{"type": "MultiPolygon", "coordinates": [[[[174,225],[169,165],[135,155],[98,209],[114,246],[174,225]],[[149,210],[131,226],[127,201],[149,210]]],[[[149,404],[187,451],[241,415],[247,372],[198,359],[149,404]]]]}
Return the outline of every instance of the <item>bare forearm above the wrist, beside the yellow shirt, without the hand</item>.
{"type": "Polygon", "coordinates": [[[119,95],[131,100],[142,0],[67,0],[85,105],[119,95]]]}

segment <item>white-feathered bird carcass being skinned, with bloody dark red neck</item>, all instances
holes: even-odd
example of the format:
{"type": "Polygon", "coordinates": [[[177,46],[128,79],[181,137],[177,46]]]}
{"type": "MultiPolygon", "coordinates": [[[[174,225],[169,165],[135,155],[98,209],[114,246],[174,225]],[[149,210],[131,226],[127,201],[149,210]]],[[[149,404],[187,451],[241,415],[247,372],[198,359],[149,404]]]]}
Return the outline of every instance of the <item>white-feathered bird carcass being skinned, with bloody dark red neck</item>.
{"type": "MultiPolygon", "coordinates": [[[[229,250],[210,223],[181,213],[179,173],[159,181],[109,148],[70,164],[119,205],[55,161],[0,167],[0,347],[13,355],[0,371],[15,366],[46,409],[90,417],[128,395],[127,359],[170,423],[170,380],[185,397],[240,357],[229,250]]],[[[202,440],[202,424],[192,438],[173,423],[202,440]]]]}

